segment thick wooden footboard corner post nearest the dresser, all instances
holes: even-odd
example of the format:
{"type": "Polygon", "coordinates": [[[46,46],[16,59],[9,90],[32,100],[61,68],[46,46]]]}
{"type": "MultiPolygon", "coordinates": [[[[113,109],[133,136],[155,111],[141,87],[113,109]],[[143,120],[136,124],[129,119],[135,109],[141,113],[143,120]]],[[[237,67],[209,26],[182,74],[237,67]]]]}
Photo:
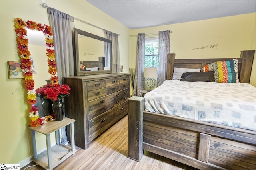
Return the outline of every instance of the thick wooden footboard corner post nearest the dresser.
{"type": "Polygon", "coordinates": [[[128,158],[140,162],[143,156],[143,111],[145,98],[132,96],[129,101],[128,158]]]}

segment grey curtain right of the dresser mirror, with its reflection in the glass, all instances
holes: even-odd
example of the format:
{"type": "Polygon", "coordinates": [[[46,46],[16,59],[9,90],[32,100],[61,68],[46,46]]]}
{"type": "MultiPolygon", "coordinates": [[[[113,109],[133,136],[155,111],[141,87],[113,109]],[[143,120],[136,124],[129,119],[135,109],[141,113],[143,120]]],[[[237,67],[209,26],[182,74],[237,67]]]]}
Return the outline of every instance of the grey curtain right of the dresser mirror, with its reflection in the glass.
{"type": "MultiPolygon", "coordinates": [[[[118,42],[118,34],[112,33],[110,31],[104,30],[104,38],[112,41],[112,72],[120,72],[120,55],[119,55],[119,42],[118,42]]],[[[108,66],[110,61],[109,54],[106,54],[106,51],[109,51],[109,44],[105,43],[105,66],[108,66]]]]}

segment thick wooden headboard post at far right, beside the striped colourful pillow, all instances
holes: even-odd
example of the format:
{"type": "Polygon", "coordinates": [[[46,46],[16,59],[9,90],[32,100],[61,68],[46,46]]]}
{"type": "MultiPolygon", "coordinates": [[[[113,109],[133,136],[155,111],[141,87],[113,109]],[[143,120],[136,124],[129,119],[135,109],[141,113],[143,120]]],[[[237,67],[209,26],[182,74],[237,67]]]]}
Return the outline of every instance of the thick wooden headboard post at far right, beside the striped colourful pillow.
{"type": "Polygon", "coordinates": [[[242,59],[242,65],[239,74],[240,83],[250,83],[254,53],[255,50],[241,51],[240,58],[242,59]]]}

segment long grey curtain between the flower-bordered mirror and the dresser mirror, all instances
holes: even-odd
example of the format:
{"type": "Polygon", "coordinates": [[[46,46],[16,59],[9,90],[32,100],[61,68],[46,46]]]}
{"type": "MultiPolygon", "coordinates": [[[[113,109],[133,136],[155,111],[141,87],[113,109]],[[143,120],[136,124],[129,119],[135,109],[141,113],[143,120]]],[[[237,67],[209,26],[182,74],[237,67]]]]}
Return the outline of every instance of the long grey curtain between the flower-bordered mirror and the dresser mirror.
{"type": "MultiPolygon", "coordinates": [[[[74,57],[72,44],[72,28],[74,17],[48,7],[48,19],[53,32],[56,68],[58,70],[59,84],[62,78],[74,76],[74,57]]],[[[61,129],[61,143],[68,141],[66,128],[61,129]]]]}

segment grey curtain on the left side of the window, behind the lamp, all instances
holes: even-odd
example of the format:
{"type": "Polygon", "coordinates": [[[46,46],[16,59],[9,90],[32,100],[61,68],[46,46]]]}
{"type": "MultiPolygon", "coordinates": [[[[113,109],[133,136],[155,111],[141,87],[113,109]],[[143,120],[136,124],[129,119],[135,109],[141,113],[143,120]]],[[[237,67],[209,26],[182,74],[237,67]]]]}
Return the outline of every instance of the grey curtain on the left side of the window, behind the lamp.
{"type": "Polygon", "coordinates": [[[144,77],[143,77],[143,69],[144,69],[144,61],[145,59],[145,33],[138,34],[138,42],[137,42],[137,63],[135,68],[135,78],[134,78],[134,96],[142,96],[142,90],[144,89],[144,77]]]}

